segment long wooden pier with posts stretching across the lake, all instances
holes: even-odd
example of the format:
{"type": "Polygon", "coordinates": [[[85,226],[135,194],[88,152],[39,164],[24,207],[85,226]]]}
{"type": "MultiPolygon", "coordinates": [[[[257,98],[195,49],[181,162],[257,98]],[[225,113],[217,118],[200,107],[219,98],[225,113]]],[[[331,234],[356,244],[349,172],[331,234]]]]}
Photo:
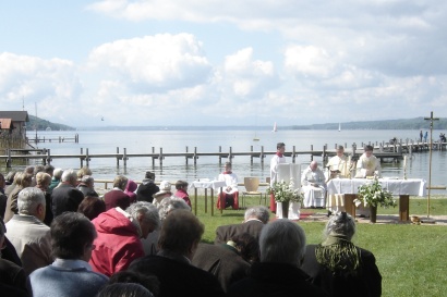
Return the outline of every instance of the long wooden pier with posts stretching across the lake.
{"type": "MultiPolygon", "coordinates": [[[[403,159],[404,154],[411,154],[418,151],[425,151],[428,150],[430,144],[427,143],[416,143],[416,141],[409,141],[406,143],[376,143],[376,144],[360,144],[358,149],[357,144],[352,144],[351,147],[348,147],[345,144],[345,152],[347,154],[352,156],[353,158],[360,157],[363,153],[363,147],[365,145],[374,146],[374,156],[384,161],[384,159],[391,159],[392,161],[399,161],[403,159]]],[[[445,149],[446,143],[434,143],[432,144],[436,149],[445,149]]],[[[328,149],[328,146],[323,146],[323,149],[315,150],[313,146],[311,146],[310,150],[297,150],[295,146],[291,147],[285,156],[292,159],[292,163],[295,163],[297,157],[300,154],[306,154],[311,157],[313,160],[314,157],[322,157],[323,160],[326,160],[328,157],[333,157],[336,154],[337,144],[334,146],[334,149],[328,149]]],[[[189,163],[191,159],[194,165],[197,164],[197,160],[200,157],[217,157],[219,164],[222,163],[222,159],[231,160],[234,157],[249,157],[251,163],[253,164],[254,159],[258,158],[261,163],[264,163],[264,159],[267,156],[275,154],[276,151],[265,151],[264,146],[261,147],[261,150],[255,151],[253,146],[251,146],[249,151],[233,151],[230,147],[228,151],[222,151],[221,146],[219,146],[218,151],[214,152],[201,152],[197,150],[197,147],[194,147],[193,151],[189,150],[189,147],[185,147],[185,151],[183,152],[166,152],[162,148],[159,148],[158,151],[155,150],[155,147],[152,148],[150,152],[141,152],[141,153],[129,153],[126,148],[123,148],[122,152],[120,152],[120,148],[117,147],[116,152],[111,153],[90,153],[88,148],[84,149],[81,148],[80,153],[77,154],[51,154],[50,149],[28,149],[28,150],[20,150],[20,149],[8,149],[7,154],[0,156],[1,160],[4,160],[7,163],[7,168],[11,168],[13,160],[24,159],[24,160],[41,160],[44,164],[50,164],[53,159],[78,159],[80,160],[80,168],[84,166],[85,164],[88,166],[92,159],[98,158],[108,158],[114,159],[117,162],[117,166],[120,165],[120,161],[123,162],[124,168],[126,166],[128,160],[130,158],[150,158],[153,165],[155,165],[156,160],[158,160],[159,165],[162,166],[162,162],[166,158],[184,158],[185,163],[189,163]],[[23,153],[25,152],[25,153],[23,153]]]]}

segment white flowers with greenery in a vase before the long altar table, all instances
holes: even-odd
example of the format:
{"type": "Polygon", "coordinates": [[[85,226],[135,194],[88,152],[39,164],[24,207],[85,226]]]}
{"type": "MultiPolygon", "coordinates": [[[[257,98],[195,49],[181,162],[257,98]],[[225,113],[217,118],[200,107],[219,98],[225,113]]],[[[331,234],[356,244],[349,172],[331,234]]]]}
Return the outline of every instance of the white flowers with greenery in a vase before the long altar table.
{"type": "Polygon", "coordinates": [[[362,202],[364,206],[370,206],[370,220],[373,223],[376,222],[378,206],[383,208],[397,206],[396,200],[392,197],[392,193],[383,188],[377,178],[374,178],[372,183],[361,185],[357,196],[358,198],[354,200],[357,206],[362,202]]]}

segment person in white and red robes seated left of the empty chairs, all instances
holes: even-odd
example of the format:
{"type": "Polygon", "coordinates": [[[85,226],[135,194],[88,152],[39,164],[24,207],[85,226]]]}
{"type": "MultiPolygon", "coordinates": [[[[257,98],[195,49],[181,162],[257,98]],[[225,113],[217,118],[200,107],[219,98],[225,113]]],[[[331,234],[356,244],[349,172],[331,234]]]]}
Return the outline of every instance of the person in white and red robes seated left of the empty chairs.
{"type": "Polygon", "coordinates": [[[227,186],[219,193],[217,208],[226,209],[232,207],[232,209],[239,209],[238,176],[232,173],[230,162],[225,163],[225,171],[219,174],[219,181],[224,181],[227,186]],[[224,202],[225,206],[221,206],[224,202]]]}

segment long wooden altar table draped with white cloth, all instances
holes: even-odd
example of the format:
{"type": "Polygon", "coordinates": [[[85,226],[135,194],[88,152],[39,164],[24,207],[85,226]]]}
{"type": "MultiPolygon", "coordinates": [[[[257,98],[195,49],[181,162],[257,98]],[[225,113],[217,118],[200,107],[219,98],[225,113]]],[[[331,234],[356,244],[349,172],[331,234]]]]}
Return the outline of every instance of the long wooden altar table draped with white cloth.
{"type": "MultiPolygon", "coordinates": [[[[345,207],[346,211],[355,216],[355,206],[353,200],[357,197],[359,187],[371,183],[369,178],[333,178],[327,183],[328,195],[334,195],[339,206],[345,207]],[[340,199],[340,195],[345,194],[345,199],[340,199]]],[[[399,196],[399,220],[409,221],[410,211],[410,195],[412,196],[426,196],[426,182],[422,178],[379,178],[382,187],[392,193],[392,195],[399,196]]]]}

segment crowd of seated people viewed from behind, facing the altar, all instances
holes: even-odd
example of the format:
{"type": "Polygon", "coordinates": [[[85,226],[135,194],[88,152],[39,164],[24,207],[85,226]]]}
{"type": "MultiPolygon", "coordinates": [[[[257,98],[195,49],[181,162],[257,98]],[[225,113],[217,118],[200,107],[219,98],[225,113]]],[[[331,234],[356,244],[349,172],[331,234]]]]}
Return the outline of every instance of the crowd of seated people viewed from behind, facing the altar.
{"type": "Polygon", "coordinates": [[[1,295],[380,296],[375,258],[351,244],[348,214],[331,216],[324,242],[306,248],[295,222],[250,207],[206,244],[188,183],[173,193],[145,176],[137,185],[118,175],[101,196],[88,169],[0,174],[1,295]]]}

